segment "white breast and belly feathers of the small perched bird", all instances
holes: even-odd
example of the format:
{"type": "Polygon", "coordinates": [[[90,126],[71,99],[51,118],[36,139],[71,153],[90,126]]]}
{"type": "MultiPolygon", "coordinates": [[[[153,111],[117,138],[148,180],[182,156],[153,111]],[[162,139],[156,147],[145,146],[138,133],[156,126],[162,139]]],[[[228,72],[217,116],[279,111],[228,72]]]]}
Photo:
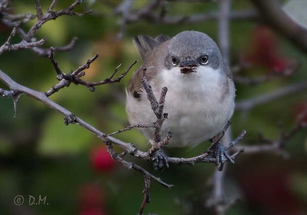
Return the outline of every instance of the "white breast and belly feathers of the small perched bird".
{"type": "MultiPolygon", "coordinates": [[[[168,131],[173,132],[169,147],[193,147],[223,129],[232,116],[234,98],[230,93],[229,97],[220,100],[223,97],[222,78],[221,73],[205,66],[189,74],[180,73],[178,67],[163,69],[153,78],[150,84],[157,99],[161,89],[168,88],[164,107],[168,119],[163,123],[162,138],[168,131]]],[[[137,101],[127,93],[126,105],[130,123],[156,121],[146,96],[137,101]]],[[[141,128],[140,132],[149,140],[153,137],[153,129],[141,128]]]]}

